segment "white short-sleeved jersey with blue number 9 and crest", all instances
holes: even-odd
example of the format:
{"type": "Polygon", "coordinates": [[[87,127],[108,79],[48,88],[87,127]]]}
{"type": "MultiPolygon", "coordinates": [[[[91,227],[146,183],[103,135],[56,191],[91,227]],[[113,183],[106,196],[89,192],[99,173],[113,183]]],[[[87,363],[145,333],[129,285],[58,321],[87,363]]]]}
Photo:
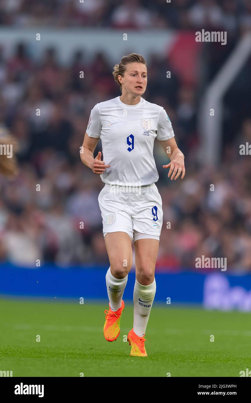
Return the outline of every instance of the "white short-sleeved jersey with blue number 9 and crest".
{"type": "Polygon", "coordinates": [[[103,160],[110,167],[100,177],[108,185],[145,186],[157,182],[154,139],[174,137],[162,106],[143,98],[137,105],[127,105],[119,96],[94,106],[86,132],[89,137],[100,137],[102,141],[103,160]]]}

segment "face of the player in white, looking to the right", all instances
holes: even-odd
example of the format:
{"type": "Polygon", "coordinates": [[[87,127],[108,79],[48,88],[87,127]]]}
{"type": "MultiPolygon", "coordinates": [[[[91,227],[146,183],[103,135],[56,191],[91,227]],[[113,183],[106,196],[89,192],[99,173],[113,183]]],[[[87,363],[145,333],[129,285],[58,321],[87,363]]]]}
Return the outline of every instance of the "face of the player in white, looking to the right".
{"type": "Polygon", "coordinates": [[[127,92],[135,96],[141,96],[145,92],[147,85],[147,68],[145,64],[138,62],[127,64],[127,69],[122,79],[127,92]]]}

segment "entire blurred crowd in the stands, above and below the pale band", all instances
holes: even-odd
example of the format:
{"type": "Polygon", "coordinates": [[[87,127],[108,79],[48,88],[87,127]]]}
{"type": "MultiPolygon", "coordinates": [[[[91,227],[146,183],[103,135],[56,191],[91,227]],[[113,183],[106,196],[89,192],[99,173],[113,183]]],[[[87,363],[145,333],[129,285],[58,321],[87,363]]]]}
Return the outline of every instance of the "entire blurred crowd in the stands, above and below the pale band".
{"type": "MultiPolygon", "coordinates": [[[[166,155],[155,143],[160,176],[156,185],[164,211],[156,270],[195,270],[195,258],[204,255],[227,258],[228,270],[251,272],[251,158],[239,154],[239,145],[251,144],[250,58],[224,98],[218,166],[199,163],[197,130],[203,90],[251,29],[251,1],[176,0],[168,10],[164,3],[0,0],[0,25],[171,28],[187,35],[201,27],[227,31],[226,46],[201,46],[195,81],[186,81],[174,69],[170,80],[163,79],[168,57],[153,51],[147,58],[144,98],[163,106],[170,116],[186,165],[185,179],[171,182],[162,168],[166,155]]],[[[4,46],[1,40],[0,126],[18,139],[20,171],[12,180],[0,177],[0,260],[31,267],[37,259],[41,264],[109,266],[97,201],[104,183],[82,164],[79,147],[93,106],[120,95],[113,63],[105,50],[87,63],[85,51],[79,49],[65,66],[53,47],[34,60],[29,43],[17,43],[6,59],[4,46]],[[79,71],[85,79],[79,78],[79,71]],[[37,108],[41,116],[36,116],[37,108]]],[[[98,151],[100,141],[95,154],[98,151]]]]}

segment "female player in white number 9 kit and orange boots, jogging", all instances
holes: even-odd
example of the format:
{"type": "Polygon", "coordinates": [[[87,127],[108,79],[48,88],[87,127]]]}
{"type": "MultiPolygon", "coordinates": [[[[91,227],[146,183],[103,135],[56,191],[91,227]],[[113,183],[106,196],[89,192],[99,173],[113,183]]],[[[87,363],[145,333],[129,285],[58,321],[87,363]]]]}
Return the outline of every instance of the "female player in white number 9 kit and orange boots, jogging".
{"type": "Polygon", "coordinates": [[[122,295],[131,270],[135,246],[136,279],[133,292],[133,328],[127,341],[131,354],[147,357],[145,330],[156,293],[154,270],[162,227],[162,199],[155,185],[159,175],[153,148],[160,141],[170,163],[168,177],[185,176],[184,155],[174,140],[172,124],[162,106],[142,98],[147,85],[147,64],[140,54],[129,54],[113,68],[121,96],[100,102],[91,110],[81,160],[105,183],[98,202],[110,267],[106,273],[109,310],[105,310],[104,337],[120,334],[124,310],[122,295]],[[98,139],[101,152],[94,158],[98,139]]]}

